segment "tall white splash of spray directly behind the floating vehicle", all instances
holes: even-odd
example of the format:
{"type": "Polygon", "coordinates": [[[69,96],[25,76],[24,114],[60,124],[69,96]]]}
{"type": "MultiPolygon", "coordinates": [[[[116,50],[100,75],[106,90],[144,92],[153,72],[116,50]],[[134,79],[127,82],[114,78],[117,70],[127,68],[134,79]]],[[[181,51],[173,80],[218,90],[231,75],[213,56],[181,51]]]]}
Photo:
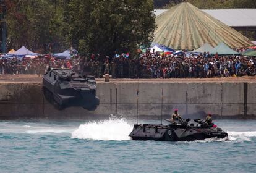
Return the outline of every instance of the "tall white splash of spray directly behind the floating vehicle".
{"type": "Polygon", "coordinates": [[[128,136],[132,131],[132,125],[126,120],[116,117],[109,117],[108,120],[100,122],[88,122],[81,124],[78,129],[72,132],[72,138],[91,140],[130,140],[128,136]]]}

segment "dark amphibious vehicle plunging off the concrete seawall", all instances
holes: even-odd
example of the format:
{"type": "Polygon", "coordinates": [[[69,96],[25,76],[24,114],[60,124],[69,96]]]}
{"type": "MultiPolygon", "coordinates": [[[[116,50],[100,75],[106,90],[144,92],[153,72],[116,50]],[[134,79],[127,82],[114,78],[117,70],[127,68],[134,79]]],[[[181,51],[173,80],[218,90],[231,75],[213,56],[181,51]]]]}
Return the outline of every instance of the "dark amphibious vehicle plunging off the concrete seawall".
{"type": "Polygon", "coordinates": [[[43,93],[56,109],[82,106],[93,111],[100,101],[96,97],[93,76],[82,76],[71,69],[49,69],[43,76],[43,93]]]}

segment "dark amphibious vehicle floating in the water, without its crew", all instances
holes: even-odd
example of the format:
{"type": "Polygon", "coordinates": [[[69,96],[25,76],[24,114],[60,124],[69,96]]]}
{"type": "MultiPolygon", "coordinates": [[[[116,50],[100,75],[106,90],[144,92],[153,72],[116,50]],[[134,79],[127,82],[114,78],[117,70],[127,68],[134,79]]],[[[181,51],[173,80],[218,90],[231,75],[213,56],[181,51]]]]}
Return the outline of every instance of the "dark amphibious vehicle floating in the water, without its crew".
{"type": "Polygon", "coordinates": [[[156,140],[156,141],[194,141],[207,138],[225,138],[228,133],[221,128],[212,127],[202,119],[194,119],[197,125],[189,124],[190,119],[161,124],[135,124],[130,133],[132,140],[156,140]]]}

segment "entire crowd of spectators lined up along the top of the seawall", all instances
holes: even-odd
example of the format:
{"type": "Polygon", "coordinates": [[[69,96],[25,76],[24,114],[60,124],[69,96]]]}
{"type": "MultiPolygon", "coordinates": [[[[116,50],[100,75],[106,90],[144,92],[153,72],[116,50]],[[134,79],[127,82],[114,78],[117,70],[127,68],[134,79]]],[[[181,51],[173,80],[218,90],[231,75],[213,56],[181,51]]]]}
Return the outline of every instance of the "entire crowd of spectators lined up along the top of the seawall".
{"type": "Polygon", "coordinates": [[[204,53],[198,56],[173,56],[159,53],[142,53],[138,57],[127,54],[106,56],[91,55],[61,60],[47,57],[22,60],[0,59],[0,74],[43,75],[48,67],[70,68],[81,74],[113,78],[203,78],[229,77],[256,74],[256,58],[244,56],[218,56],[204,53]]]}

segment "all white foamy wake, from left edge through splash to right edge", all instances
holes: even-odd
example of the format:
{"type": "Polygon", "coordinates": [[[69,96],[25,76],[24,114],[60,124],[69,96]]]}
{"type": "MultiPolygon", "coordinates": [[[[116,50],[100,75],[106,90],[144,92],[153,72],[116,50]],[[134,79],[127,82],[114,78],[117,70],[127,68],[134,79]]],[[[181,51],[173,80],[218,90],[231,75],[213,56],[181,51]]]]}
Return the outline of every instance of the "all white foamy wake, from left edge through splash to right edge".
{"type": "MultiPolygon", "coordinates": [[[[128,136],[132,131],[133,124],[126,119],[119,117],[109,117],[108,120],[100,122],[87,122],[77,128],[77,124],[47,124],[47,123],[29,123],[29,122],[0,122],[0,134],[6,133],[29,133],[29,134],[71,134],[72,138],[89,140],[130,140],[128,136]]],[[[232,127],[229,127],[232,129],[232,127]]],[[[252,129],[252,128],[250,128],[252,129]]],[[[247,130],[241,129],[241,130],[247,130]]],[[[245,132],[227,131],[228,138],[210,138],[194,142],[244,142],[252,141],[256,138],[256,130],[245,132]]]]}

